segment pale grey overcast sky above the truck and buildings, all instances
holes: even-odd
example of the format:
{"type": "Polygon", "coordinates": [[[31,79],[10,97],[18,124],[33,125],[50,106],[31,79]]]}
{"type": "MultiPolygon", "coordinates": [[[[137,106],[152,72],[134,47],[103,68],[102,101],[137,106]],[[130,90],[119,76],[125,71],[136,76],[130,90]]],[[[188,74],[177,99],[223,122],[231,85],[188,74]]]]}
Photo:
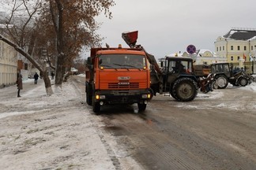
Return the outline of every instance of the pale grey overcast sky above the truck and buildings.
{"type": "Polygon", "coordinates": [[[126,46],[122,32],[139,31],[137,43],[155,57],[197,49],[214,51],[214,42],[231,28],[256,28],[255,0],[115,0],[113,18],[99,17],[103,45],[126,46]]]}

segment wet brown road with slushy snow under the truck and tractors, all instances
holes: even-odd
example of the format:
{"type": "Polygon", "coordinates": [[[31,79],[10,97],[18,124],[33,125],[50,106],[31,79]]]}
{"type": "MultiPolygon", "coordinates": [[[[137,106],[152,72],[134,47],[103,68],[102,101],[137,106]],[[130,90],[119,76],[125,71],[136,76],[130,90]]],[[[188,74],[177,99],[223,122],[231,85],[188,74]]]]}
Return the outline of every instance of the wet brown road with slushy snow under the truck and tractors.
{"type": "Polygon", "coordinates": [[[137,113],[137,105],[111,105],[102,108],[99,119],[102,131],[145,169],[253,170],[255,97],[233,87],[198,94],[193,102],[157,95],[144,113],[137,113]]]}

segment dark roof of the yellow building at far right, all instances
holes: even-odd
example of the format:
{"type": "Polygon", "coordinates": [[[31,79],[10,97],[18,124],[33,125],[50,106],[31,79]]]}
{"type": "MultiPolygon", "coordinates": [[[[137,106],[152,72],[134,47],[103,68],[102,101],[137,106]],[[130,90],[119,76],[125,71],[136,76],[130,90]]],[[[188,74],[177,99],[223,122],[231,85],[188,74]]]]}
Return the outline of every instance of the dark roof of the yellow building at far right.
{"type": "Polygon", "coordinates": [[[249,40],[256,36],[255,28],[232,28],[224,35],[224,38],[235,40],[249,40]]]}

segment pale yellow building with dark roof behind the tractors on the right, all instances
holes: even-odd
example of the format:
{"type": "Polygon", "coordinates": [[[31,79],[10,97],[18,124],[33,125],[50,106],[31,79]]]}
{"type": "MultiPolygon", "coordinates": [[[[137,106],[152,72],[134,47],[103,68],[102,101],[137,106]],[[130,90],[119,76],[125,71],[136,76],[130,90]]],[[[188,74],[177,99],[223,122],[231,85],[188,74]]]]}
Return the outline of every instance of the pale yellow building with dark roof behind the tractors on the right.
{"type": "Polygon", "coordinates": [[[232,28],[216,39],[215,51],[228,62],[253,61],[256,56],[256,28],[232,28]]]}

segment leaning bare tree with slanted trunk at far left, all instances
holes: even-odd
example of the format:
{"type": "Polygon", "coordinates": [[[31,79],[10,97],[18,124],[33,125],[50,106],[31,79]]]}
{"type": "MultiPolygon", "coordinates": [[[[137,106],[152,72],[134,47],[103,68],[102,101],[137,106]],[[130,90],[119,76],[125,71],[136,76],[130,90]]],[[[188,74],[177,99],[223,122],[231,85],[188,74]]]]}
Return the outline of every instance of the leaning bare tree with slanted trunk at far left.
{"type": "MultiPolygon", "coordinates": [[[[6,3],[8,1],[5,1],[6,3]]],[[[4,34],[11,37],[7,39],[6,36],[0,35],[0,40],[13,46],[18,53],[23,55],[34,65],[43,75],[47,95],[53,94],[51,89],[51,81],[47,76],[45,59],[36,55],[36,15],[42,8],[42,1],[37,0],[35,3],[29,4],[26,0],[9,1],[12,9],[9,17],[6,17],[3,29],[4,34]]]]}

